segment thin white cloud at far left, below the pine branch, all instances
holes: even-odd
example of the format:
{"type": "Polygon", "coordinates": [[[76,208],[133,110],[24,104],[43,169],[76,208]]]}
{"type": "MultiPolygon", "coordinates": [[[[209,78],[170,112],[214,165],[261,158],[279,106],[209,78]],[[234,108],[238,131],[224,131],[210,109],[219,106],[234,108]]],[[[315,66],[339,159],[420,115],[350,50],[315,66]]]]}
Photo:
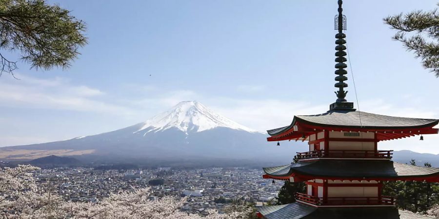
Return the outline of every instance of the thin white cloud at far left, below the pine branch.
{"type": "Polygon", "coordinates": [[[20,76],[20,80],[5,77],[0,80],[0,86],[0,106],[135,114],[129,108],[96,98],[104,94],[98,89],[73,85],[59,77],[37,79],[20,76]]]}

